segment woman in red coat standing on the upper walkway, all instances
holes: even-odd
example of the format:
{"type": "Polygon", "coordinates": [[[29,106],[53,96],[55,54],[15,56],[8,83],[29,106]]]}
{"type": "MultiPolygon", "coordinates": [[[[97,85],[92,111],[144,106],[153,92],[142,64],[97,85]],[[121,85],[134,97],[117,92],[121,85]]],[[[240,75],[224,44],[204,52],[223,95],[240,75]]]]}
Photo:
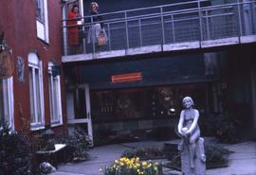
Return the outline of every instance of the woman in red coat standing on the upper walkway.
{"type": "Polygon", "coordinates": [[[79,17],[79,8],[77,5],[73,5],[72,9],[67,15],[68,21],[66,22],[68,30],[68,44],[70,47],[70,52],[76,52],[79,42],[79,26],[77,26],[77,21],[79,17]],[[73,19],[73,20],[72,20],[73,19]]]}

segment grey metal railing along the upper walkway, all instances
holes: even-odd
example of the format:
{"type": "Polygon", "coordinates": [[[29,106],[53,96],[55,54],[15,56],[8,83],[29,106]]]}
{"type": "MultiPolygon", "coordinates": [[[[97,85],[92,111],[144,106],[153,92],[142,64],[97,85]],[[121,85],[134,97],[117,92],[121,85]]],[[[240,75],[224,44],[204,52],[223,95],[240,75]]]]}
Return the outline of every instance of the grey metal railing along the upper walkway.
{"type": "MultiPolygon", "coordinates": [[[[153,8],[122,10],[100,14],[108,41],[105,45],[87,44],[89,28],[99,22],[93,16],[84,16],[82,24],[64,23],[64,55],[91,54],[165,44],[203,42],[256,34],[256,1],[222,4],[206,7],[206,1],[157,6],[153,8]],[[70,45],[70,28],[78,45],[70,45]]],[[[90,33],[94,35],[94,33],[90,33]]],[[[89,34],[89,35],[90,35],[89,34]]]]}

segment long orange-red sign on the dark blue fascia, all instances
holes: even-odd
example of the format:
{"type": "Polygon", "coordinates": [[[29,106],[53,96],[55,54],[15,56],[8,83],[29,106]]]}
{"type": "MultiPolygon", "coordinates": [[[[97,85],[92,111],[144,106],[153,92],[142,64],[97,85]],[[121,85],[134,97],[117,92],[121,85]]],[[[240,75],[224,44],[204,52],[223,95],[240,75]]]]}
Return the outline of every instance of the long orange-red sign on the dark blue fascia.
{"type": "Polygon", "coordinates": [[[141,72],[129,73],[129,74],[120,74],[120,75],[116,75],[116,76],[111,77],[111,81],[113,83],[137,81],[137,80],[141,80],[141,79],[142,79],[141,72]]]}

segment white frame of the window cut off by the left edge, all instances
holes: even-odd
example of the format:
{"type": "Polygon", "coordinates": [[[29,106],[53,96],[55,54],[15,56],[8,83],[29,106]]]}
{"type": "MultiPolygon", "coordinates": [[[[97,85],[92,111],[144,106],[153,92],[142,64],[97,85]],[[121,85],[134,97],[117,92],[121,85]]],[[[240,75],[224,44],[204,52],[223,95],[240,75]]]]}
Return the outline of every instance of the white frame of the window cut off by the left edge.
{"type": "Polygon", "coordinates": [[[9,79],[2,79],[3,89],[3,97],[4,97],[4,117],[8,119],[9,128],[14,131],[14,118],[13,118],[13,79],[12,77],[9,79]]]}

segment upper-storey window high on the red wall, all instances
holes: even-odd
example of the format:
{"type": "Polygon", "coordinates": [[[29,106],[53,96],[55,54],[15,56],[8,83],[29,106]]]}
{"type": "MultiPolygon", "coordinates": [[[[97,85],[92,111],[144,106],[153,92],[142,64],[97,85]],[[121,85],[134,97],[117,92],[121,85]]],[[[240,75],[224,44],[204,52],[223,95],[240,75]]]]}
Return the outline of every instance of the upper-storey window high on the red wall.
{"type": "Polygon", "coordinates": [[[46,43],[49,43],[48,33],[48,12],[47,12],[47,0],[35,0],[36,1],[36,27],[37,37],[46,43]]]}

